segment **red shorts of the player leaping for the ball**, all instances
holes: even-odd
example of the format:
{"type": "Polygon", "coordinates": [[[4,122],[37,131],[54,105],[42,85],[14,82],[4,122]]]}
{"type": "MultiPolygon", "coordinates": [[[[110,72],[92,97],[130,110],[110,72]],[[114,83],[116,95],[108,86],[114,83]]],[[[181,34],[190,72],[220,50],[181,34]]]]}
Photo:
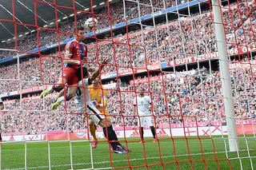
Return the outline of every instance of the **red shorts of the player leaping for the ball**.
{"type": "Polygon", "coordinates": [[[71,67],[65,67],[63,69],[63,77],[66,78],[67,85],[75,85],[78,84],[78,77],[76,75],[78,69],[74,69],[71,67]]]}

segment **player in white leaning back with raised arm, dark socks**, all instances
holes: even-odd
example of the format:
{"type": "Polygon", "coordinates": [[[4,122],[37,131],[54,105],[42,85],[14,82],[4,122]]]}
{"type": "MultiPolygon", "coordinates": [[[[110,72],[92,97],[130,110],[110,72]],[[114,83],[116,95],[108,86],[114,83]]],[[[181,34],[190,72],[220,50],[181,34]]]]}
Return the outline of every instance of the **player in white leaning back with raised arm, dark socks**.
{"type": "MultiPolygon", "coordinates": [[[[90,77],[82,79],[82,81],[78,82],[78,85],[80,85],[80,87],[78,87],[75,93],[77,106],[79,112],[87,114],[88,118],[91,121],[94,121],[96,125],[100,125],[102,127],[104,136],[106,137],[106,139],[108,139],[108,142],[110,143],[115,153],[126,153],[128,150],[126,150],[126,147],[122,146],[122,144],[118,142],[118,136],[114,132],[111,123],[107,121],[106,117],[100,111],[98,111],[98,109],[95,108],[93,102],[90,100],[88,86],[92,84],[92,81],[94,81],[96,77],[98,77],[100,70],[102,70],[104,65],[108,63],[108,60],[104,60],[102,61],[102,63],[103,65],[101,65],[100,68],[92,73],[90,77]]],[[[84,76],[87,75],[88,73],[84,74],[84,76]]],[[[56,105],[59,105],[58,102],[63,101],[63,96],[65,95],[64,93],[65,89],[63,89],[62,92],[58,94],[58,99],[54,104],[57,103],[56,105]]],[[[69,93],[69,89],[67,89],[67,93],[69,93]]],[[[52,109],[55,109],[54,105],[52,106],[52,109]]]]}

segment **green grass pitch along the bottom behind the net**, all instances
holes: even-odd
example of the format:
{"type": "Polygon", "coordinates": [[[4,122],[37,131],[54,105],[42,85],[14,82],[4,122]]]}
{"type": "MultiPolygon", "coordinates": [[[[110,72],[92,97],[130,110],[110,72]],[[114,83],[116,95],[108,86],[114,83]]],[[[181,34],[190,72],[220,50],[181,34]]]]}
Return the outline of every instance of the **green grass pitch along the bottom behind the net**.
{"type": "MultiPolygon", "coordinates": [[[[134,140],[139,139],[127,139],[128,147],[131,150],[128,155],[110,153],[106,142],[98,143],[98,148],[93,150],[94,168],[131,169],[128,167],[132,167],[132,169],[147,169],[146,166],[148,169],[256,168],[256,140],[254,136],[246,136],[246,138],[239,136],[239,152],[225,152],[225,148],[228,150],[226,136],[224,138],[214,136],[212,139],[202,138],[201,140],[197,137],[190,137],[187,140],[162,137],[159,143],[154,144],[149,139],[144,145],[134,140]]],[[[26,159],[26,168],[28,169],[49,169],[50,155],[52,169],[70,169],[72,168],[70,152],[72,152],[74,169],[92,168],[90,144],[84,140],[71,143],[54,141],[50,143],[26,143],[26,145],[24,142],[3,144],[1,168],[24,169],[26,159]]]]}

